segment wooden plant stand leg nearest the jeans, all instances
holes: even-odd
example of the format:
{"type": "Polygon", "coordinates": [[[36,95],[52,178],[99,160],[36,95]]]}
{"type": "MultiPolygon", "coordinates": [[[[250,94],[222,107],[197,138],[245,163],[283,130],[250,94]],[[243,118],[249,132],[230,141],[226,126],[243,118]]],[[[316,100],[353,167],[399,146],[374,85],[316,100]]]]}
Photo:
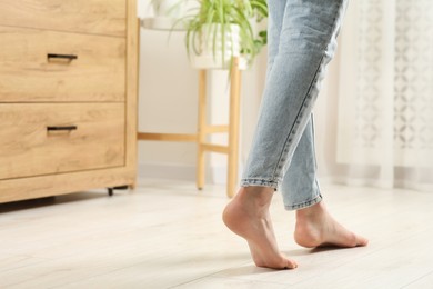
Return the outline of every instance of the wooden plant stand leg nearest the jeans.
{"type": "Polygon", "coordinates": [[[239,70],[239,58],[233,58],[230,81],[229,166],[226,195],[231,198],[234,196],[238,185],[239,111],[241,92],[241,71],[239,70]]]}

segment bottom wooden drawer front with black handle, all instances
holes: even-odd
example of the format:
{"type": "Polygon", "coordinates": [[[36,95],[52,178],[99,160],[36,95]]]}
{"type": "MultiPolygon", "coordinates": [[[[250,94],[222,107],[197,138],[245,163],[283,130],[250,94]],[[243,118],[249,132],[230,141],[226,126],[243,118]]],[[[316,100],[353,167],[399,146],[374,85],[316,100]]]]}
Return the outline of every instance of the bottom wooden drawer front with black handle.
{"type": "Polygon", "coordinates": [[[121,166],[123,103],[0,104],[0,179],[121,166]]]}

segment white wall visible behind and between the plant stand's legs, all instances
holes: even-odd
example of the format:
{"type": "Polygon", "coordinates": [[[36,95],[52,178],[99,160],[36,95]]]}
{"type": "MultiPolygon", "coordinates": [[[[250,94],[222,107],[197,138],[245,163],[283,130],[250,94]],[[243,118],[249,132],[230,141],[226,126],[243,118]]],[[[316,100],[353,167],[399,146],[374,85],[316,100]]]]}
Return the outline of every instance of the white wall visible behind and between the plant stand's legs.
{"type": "MultiPolygon", "coordinates": [[[[148,1],[139,1],[139,16],[149,16],[148,1]]],[[[140,31],[139,130],[145,132],[194,133],[198,118],[198,71],[188,62],[184,32],[140,31]]],[[[255,127],[265,77],[265,50],[254,66],[242,73],[241,158],[244,163],[255,127]]],[[[208,81],[210,121],[228,121],[226,72],[210,71],[208,81]]],[[[225,136],[212,141],[224,143],[225,136]]],[[[225,181],[226,157],[209,153],[209,180],[225,181]]],[[[189,142],[139,142],[139,175],[195,179],[195,144],[189,142]]]]}

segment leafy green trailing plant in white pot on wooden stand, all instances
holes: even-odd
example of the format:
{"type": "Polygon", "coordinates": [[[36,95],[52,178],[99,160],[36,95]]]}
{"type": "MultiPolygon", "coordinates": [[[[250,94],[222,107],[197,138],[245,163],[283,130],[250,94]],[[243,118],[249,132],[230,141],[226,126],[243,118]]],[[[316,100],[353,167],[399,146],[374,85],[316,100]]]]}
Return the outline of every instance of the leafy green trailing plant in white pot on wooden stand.
{"type": "Polygon", "coordinates": [[[187,19],[188,57],[197,68],[231,66],[232,57],[251,64],[266,44],[266,31],[255,36],[250,21],[268,17],[266,0],[197,0],[187,19]]]}

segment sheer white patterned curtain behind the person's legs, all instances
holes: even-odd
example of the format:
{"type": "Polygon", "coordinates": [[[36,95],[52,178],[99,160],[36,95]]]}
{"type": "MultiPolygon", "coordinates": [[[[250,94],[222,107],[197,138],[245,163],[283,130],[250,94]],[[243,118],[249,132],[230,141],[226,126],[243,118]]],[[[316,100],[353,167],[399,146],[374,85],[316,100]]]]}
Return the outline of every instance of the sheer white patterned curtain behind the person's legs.
{"type": "Polygon", "coordinates": [[[433,1],[353,0],[315,108],[324,180],[433,192],[433,1]]]}

